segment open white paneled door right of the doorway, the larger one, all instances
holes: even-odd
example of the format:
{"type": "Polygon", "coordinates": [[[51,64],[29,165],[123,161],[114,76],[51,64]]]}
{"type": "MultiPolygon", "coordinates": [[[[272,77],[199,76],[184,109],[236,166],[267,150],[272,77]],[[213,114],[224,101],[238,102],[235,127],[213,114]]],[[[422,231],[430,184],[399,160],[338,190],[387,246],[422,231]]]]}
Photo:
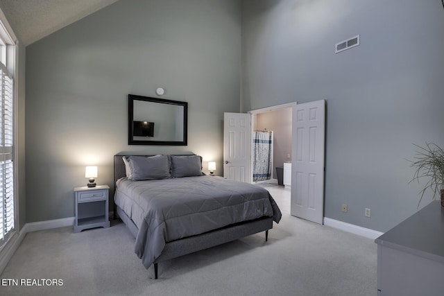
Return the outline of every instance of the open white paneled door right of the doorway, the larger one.
{"type": "Polygon", "coordinates": [[[323,224],[325,101],[293,107],[291,215],[323,224]]]}

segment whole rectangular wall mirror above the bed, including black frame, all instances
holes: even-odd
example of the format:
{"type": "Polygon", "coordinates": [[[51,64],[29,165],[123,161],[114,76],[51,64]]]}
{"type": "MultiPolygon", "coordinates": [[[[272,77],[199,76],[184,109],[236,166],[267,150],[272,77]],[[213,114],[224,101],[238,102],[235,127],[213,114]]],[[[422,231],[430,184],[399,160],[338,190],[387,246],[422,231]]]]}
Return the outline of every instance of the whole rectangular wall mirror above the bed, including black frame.
{"type": "Polygon", "coordinates": [[[188,103],[128,94],[128,145],[187,145],[188,103]]]}

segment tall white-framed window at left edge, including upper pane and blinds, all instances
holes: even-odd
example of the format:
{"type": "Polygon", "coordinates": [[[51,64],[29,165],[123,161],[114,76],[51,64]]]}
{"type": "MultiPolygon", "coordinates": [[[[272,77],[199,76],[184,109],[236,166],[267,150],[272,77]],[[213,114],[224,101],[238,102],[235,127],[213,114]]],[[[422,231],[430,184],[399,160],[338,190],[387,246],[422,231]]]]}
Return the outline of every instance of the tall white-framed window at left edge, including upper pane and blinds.
{"type": "Polygon", "coordinates": [[[15,36],[0,10],[0,247],[16,227],[15,204],[15,36]]]}

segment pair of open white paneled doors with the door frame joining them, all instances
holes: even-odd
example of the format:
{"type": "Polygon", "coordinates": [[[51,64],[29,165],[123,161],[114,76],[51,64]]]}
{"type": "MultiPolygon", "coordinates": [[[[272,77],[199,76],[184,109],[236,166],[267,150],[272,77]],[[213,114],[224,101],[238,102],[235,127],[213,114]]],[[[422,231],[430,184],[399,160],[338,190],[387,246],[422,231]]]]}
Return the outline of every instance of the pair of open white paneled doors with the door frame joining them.
{"type": "Polygon", "coordinates": [[[291,107],[291,215],[323,224],[325,171],[325,100],[290,103],[224,114],[223,175],[252,183],[251,134],[255,114],[291,107]]]}

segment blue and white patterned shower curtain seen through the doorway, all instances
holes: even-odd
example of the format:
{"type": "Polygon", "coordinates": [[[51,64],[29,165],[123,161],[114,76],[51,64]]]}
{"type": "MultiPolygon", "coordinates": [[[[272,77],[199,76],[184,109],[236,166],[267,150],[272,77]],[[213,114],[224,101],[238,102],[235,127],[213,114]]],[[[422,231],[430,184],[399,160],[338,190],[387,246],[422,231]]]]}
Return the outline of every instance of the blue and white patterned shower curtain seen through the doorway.
{"type": "Polygon", "coordinates": [[[253,132],[253,182],[271,179],[273,132],[253,132]]]}

